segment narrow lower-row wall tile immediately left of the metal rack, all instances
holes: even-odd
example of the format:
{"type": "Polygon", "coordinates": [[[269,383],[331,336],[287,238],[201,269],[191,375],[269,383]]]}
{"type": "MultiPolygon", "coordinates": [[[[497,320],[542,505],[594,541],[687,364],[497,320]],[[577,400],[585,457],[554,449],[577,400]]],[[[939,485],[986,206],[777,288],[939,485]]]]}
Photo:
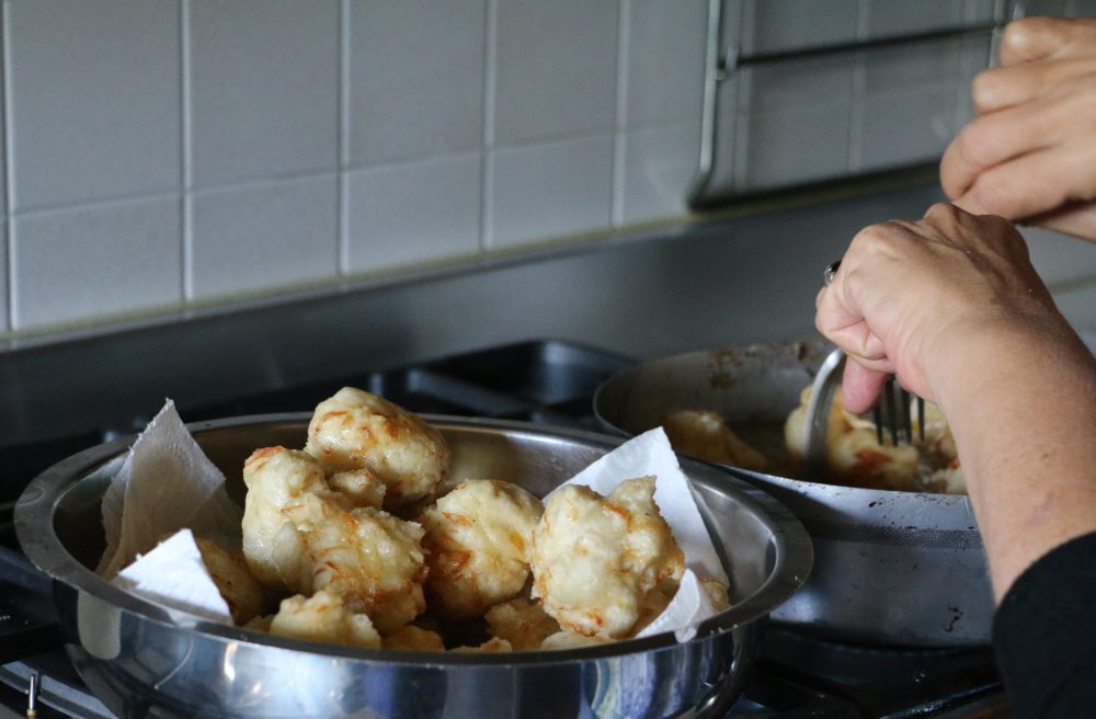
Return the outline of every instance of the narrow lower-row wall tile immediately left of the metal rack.
{"type": "Polygon", "coordinates": [[[700,126],[629,133],[624,140],[625,224],[688,213],[686,201],[699,170],[700,126]]]}

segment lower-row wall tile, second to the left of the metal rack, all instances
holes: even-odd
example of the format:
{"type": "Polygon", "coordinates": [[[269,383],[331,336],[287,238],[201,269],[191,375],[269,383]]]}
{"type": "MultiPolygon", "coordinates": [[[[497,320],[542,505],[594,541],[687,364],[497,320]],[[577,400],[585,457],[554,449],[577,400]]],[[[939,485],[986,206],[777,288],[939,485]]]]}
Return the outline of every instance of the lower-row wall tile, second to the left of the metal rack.
{"type": "Polygon", "coordinates": [[[529,243],[612,224],[612,136],[495,150],[488,163],[488,247],[529,243]]]}

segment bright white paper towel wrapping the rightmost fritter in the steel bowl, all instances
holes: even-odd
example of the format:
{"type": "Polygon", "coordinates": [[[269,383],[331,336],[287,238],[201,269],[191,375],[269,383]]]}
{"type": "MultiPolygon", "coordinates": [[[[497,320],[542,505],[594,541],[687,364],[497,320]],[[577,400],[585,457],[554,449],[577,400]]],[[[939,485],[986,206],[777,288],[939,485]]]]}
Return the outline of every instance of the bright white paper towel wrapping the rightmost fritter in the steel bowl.
{"type": "MultiPolygon", "coordinates": [[[[704,525],[688,479],[677,464],[677,456],[662,427],[629,440],[563,482],[584,484],[598,494],[613,493],[626,479],[654,475],[654,502],[674,533],[685,555],[685,572],[669,606],[637,636],[650,637],[673,631],[677,641],[688,641],[697,626],[716,614],[697,574],[727,583],[719,555],[704,525]]],[[[547,498],[545,498],[547,501],[547,498]]]]}

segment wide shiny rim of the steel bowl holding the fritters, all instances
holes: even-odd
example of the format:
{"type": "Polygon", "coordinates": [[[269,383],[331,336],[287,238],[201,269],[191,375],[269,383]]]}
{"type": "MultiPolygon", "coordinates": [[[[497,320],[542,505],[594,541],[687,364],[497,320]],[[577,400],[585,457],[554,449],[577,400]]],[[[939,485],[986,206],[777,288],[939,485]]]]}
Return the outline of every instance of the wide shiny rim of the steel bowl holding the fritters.
{"type": "MultiPolygon", "coordinates": [[[[307,426],[311,413],[290,412],[252,414],[187,423],[192,434],[207,431],[243,427],[254,424],[274,425],[301,423],[307,426]]],[[[540,437],[557,437],[596,445],[610,449],[626,440],[583,430],[570,430],[512,420],[466,418],[445,414],[422,414],[425,421],[438,429],[521,433],[540,437]]],[[[160,606],[129,594],[102,580],[92,570],[72,557],[56,532],[53,530],[54,512],[68,489],[91,471],[121,456],[137,438],[137,434],[118,437],[73,454],[35,477],[15,502],[15,534],[27,558],[56,582],[103,600],[123,613],[135,615],[141,621],[152,621],[163,628],[193,631],[207,639],[221,642],[247,641],[253,644],[307,651],[358,660],[366,663],[414,665],[511,665],[555,664],[585,661],[602,657],[616,657],[662,650],[678,646],[670,634],[643,639],[628,639],[603,646],[569,650],[491,652],[426,652],[392,651],[364,648],[344,648],[333,644],[275,637],[265,632],[246,630],[196,619],[193,626],[183,626],[169,618],[160,606]],[[520,658],[521,661],[514,661],[520,658]]],[[[682,469],[690,481],[724,484],[742,501],[773,534],[776,561],[766,581],[753,595],[701,623],[696,636],[689,640],[704,640],[731,631],[767,615],[802,586],[813,563],[813,549],[800,521],[776,499],[734,477],[719,465],[695,460],[678,455],[682,469]]]]}

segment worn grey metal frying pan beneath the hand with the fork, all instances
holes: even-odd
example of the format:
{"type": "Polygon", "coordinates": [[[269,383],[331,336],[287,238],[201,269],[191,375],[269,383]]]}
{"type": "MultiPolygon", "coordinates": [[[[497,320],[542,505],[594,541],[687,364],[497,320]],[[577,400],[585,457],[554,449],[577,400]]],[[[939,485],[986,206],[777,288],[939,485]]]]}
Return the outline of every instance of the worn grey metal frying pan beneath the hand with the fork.
{"type": "MultiPolygon", "coordinates": [[[[654,360],[607,379],[594,411],[606,430],[630,436],[673,410],[715,410],[763,454],[779,457],[784,421],[831,350],[821,341],[795,342],[654,360]]],[[[735,473],[788,506],[813,540],[814,570],[774,620],[852,642],[989,643],[993,598],[966,495],[735,473]]]]}

